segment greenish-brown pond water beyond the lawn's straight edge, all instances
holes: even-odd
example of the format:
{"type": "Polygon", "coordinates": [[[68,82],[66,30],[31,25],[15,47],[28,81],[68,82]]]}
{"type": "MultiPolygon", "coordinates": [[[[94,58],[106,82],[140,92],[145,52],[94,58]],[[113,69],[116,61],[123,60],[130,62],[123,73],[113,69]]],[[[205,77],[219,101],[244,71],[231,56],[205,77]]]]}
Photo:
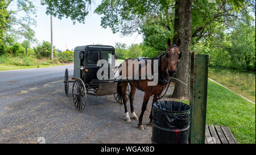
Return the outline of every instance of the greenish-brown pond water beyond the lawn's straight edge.
{"type": "Polygon", "coordinates": [[[255,102],[255,72],[209,68],[208,77],[255,102]]]}

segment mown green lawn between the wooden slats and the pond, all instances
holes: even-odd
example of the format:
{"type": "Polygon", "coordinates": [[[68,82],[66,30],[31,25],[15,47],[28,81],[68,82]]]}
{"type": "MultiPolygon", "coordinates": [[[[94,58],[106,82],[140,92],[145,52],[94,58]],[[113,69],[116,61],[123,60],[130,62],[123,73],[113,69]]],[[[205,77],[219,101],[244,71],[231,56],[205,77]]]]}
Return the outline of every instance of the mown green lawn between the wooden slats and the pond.
{"type": "Polygon", "coordinates": [[[228,126],[238,143],[255,144],[255,104],[212,81],[208,81],[206,123],[228,126]]]}

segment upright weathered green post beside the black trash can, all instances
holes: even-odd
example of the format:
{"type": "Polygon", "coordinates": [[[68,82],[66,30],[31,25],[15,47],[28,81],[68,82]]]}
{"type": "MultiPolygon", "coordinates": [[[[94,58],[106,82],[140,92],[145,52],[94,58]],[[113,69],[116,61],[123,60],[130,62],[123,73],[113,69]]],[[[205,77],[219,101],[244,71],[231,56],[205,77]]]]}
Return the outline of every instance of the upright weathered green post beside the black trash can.
{"type": "Polygon", "coordinates": [[[208,55],[191,53],[191,77],[189,81],[189,105],[191,123],[189,143],[205,143],[205,125],[207,112],[208,55]]]}

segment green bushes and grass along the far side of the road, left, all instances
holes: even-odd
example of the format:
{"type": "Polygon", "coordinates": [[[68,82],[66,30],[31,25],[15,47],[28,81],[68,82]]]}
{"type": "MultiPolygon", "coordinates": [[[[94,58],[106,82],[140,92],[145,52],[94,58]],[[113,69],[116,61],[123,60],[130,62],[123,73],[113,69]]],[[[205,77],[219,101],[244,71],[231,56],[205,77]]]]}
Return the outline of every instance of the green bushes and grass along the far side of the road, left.
{"type": "Polygon", "coordinates": [[[51,60],[51,44],[48,41],[43,41],[34,49],[27,48],[27,51],[19,43],[6,45],[0,53],[0,70],[45,68],[73,62],[72,51],[56,52],[55,48],[53,51],[55,58],[51,60]]]}

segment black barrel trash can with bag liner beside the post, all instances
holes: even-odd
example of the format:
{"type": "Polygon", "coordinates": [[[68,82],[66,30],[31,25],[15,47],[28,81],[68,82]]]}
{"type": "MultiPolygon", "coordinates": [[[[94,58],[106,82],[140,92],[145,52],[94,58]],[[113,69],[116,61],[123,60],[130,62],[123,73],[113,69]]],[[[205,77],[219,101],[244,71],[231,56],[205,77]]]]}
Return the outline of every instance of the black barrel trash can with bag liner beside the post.
{"type": "Polygon", "coordinates": [[[182,102],[159,100],[152,108],[152,143],[187,144],[190,107],[182,102]]]}

